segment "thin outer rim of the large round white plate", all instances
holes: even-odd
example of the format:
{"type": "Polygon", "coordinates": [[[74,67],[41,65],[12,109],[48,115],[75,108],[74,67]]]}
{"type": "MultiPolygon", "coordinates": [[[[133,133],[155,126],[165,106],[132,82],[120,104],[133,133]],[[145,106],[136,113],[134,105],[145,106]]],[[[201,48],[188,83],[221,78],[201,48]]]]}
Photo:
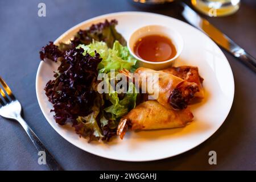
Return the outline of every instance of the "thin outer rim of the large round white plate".
{"type": "MultiPolygon", "coordinates": [[[[116,12],[116,13],[109,13],[109,14],[104,14],[104,15],[99,15],[99,16],[94,16],[93,18],[89,18],[89,19],[86,19],[78,24],[76,24],[75,26],[69,28],[67,31],[65,31],[63,34],[61,34],[53,43],[56,44],[56,43],[59,43],[59,40],[60,39],[63,39],[67,34],[69,34],[69,32],[75,30],[77,27],[80,27],[82,26],[83,24],[86,24],[88,22],[92,22],[93,20],[97,20],[97,19],[102,19],[106,16],[113,16],[113,15],[122,15],[122,14],[149,14],[149,15],[156,15],[156,16],[163,16],[164,18],[171,18],[172,20],[175,20],[177,22],[182,22],[182,23],[185,23],[187,24],[187,26],[190,26],[192,28],[194,28],[196,31],[199,31],[201,32],[200,30],[198,30],[197,28],[191,26],[191,24],[188,24],[187,22],[184,22],[182,20],[179,20],[179,19],[176,19],[176,18],[173,18],[171,16],[168,16],[168,15],[162,15],[162,14],[157,14],[157,13],[150,13],[150,12],[143,12],[143,11],[120,11],[120,12],[116,12]]],[[[228,109],[228,112],[226,113],[225,117],[224,117],[224,120],[221,122],[220,126],[218,126],[216,128],[216,130],[214,132],[212,132],[212,134],[209,135],[209,137],[205,137],[205,139],[203,139],[202,141],[200,141],[198,144],[196,144],[195,146],[192,146],[192,147],[189,147],[187,150],[184,150],[184,151],[181,151],[181,152],[177,152],[177,154],[175,155],[170,155],[170,156],[155,156],[154,159],[150,158],[150,159],[141,159],[141,160],[138,160],[138,159],[120,159],[120,158],[115,158],[114,156],[112,157],[109,157],[109,156],[104,156],[104,154],[98,154],[98,153],[95,153],[95,152],[92,152],[92,151],[88,151],[88,150],[85,150],[84,148],[80,147],[79,144],[77,143],[73,143],[71,140],[68,139],[68,137],[65,137],[63,135],[61,135],[59,133],[59,131],[57,130],[57,128],[51,123],[48,121],[48,114],[44,112],[44,109],[43,109],[43,106],[42,104],[39,102],[39,72],[40,72],[40,69],[43,65],[43,61],[41,60],[40,63],[39,63],[39,66],[38,66],[38,70],[36,72],[36,80],[35,80],[35,88],[36,88],[36,98],[38,100],[38,104],[39,104],[39,107],[44,115],[44,118],[47,120],[47,122],[49,123],[49,125],[51,125],[51,127],[57,132],[57,134],[59,134],[61,137],[63,137],[65,140],[67,140],[69,143],[73,144],[74,146],[80,148],[81,150],[83,151],[86,151],[90,154],[93,154],[93,155],[97,155],[97,156],[100,156],[102,158],[106,158],[106,159],[112,159],[112,160],[118,160],[118,161],[125,161],[125,162],[147,162],[147,161],[154,161],[154,160],[161,160],[161,159],[167,159],[167,158],[171,158],[173,156],[177,156],[177,155],[180,155],[180,154],[183,154],[189,150],[192,150],[193,148],[199,146],[200,144],[203,144],[206,140],[208,140],[210,137],[212,137],[212,135],[214,135],[216,133],[216,131],[218,129],[220,129],[220,127],[223,125],[223,123],[226,121],[226,118],[228,117],[229,113],[230,113],[230,110],[232,108],[232,105],[233,105],[233,102],[234,102],[234,91],[235,91],[235,84],[234,84],[234,75],[233,75],[233,71],[232,71],[232,68],[229,64],[229,61],[228,59],[226,58],[224,52],[221,50],[221,48],[212,40],[210,39],[207,35],[204,34],[204,32],[201,32],[202,33],[202,36],[205,36],[207,39],[209,39],[210,42],[212,42],[213,44],[215,44],[217,47],[218,47],[218,50],[221,52],[221,54],[225,57],[226,59],[226,62],[228,63],[228,68],[230,70],[230,73],[231,73],[231,76],[232,76],[232,102],[230,102],[230,105],[228,106],[229,109],[228,109]]]]}

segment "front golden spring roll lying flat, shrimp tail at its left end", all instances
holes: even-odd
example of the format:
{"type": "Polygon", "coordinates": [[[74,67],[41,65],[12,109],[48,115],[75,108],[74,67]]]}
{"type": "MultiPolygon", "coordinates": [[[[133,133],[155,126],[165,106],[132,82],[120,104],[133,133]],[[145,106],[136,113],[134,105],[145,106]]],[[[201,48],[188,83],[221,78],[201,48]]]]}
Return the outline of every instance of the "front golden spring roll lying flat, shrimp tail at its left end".
{"type": "Polygon", "coordinates": [[[142,102],[121,118],[117,135],[122,139],[126,130],[154,130],[184,127],[193,119],[190,109],[167,109],[155,100],[142,102]]]}

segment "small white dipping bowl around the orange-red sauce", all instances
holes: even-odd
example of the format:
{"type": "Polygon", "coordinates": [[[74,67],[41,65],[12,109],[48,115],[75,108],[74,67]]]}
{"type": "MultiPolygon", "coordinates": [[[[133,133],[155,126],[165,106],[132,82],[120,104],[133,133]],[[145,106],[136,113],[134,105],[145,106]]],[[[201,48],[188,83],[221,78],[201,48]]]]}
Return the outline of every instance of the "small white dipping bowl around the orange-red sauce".
{"type": "Polygon", "coordinates": [[[155,70],[160,70],[164,69],[167,67],[170,67],[174,61],[179,57],[182,49],[183,49],[183,39],[179,32],[173,30],[172,28],[161,26],[161,25],[149,25],[145,27],[141,27],[133,34],[131,34],[130,38],[128,39],[128,49],[131,52],[131,54],[139,60],[139,67],[146,67],[146,68],[151,68],[155,70]],[[144,36],[148,35],[163,35],[169,38],[172,43],[174,44],[176,48],[176,55],[172,57],[172,59],[166,60],[166,61],[161,61],[161,62],[151,62],[151,61],[146,61],[141,59],[141,57],[138,57],[134,53],[134,44],[140,39],[143,38],[144,36]]]}

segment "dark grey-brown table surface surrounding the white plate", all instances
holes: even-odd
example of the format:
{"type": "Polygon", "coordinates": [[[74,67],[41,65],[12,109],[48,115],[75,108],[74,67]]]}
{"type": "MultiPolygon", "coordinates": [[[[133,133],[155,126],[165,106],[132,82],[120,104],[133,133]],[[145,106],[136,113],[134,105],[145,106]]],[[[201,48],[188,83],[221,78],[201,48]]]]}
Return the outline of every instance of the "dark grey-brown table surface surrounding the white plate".
{"type": "MultiPolygon", "coordinates": [[[[64,169],[256,169],[256,75],[226,52],[235,80],[233,106],[220,129],[200,146],[172,158],[137,163],[101,158],[67,142],[46,121],[36,99],[35,77],[40,48],[77,23],[102,14],[148,11],[184,19],[174,3],[160,7],[138,7],[127,0],[44,1],[47,14],[46,17],[39,17],[40,2],[0,1],[0,75],[22,103],[28,125],[64,169]],[[208,152],[212,150],[217,152],[217,165],[208,163],[208,152]]],[[[242,1],[240,10],[234,15],[207,18],[254,57],[255,2],[242,1]]],[[[48,170],[47,166],[38,164],[38,158],[38,152],[19,123],[0,117],[0,169],[48,170]]]]}

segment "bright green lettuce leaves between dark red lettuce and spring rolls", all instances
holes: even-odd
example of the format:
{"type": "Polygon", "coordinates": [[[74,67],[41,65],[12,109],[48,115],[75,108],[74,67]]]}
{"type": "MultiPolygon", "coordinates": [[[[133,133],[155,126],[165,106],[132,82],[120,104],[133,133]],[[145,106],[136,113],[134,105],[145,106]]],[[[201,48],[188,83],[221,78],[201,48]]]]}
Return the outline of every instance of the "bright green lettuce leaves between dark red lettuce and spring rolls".
{"type": "MultiPolygon", "coordinates": [[[[98,64],[98,73],[108,73],[110,75],[110,69],[117,71],[123,68],[129,71],[135,68],[137,60],[130,55],[130,52],[126,46],[122,46],[117,40],[113,44],[113,48],[108,48],[105,42],[94,41],[88,45],[80,44],[77,49],[84,49],[84,55],[88,53],[90,56],[95,56],[96,52],[100,54],[102,61],[98,64]]],[[[115,79],[116,77],[114,77],[115,79]]],[[[118,80],[118,79],[115,79],[118,80]]],[[[109,104],[104,105],[104,112],[108,116],[108,119],[112,121],[112,127],[117,127],[119,119],[127,114],[136,105],[137,90],[135,85],[130,82],[128,85],[127,93],[123,98],[119,98],[117,90],[114,89],[115,85],[110,84],[110,78],[104,78],[105,85],[108,88],[108,93],[104,93],[104,99],[109,101],[109,104]]],[[[96,109],[96,108],[95,108],[96,109]]],[[[108,124],[108,119],[102,114],[100,122],[102,126],[108,124]]],[[[94,129],[97,131],[97,129],[94,129]]],[[[94,134],[96,136],[96,134],[94,134]]],[[[101,136],[97,134],[97,136],[101,136]]]]}

